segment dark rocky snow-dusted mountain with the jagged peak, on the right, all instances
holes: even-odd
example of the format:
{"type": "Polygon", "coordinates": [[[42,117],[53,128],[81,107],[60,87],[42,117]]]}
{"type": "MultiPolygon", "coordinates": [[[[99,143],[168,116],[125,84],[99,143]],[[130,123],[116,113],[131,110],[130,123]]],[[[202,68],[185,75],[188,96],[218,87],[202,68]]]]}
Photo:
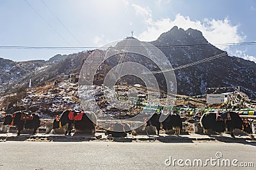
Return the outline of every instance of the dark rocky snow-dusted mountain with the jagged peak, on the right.
{"type": "MultiPolygon", "coordinates": [[[[202,32],[173,27],[151,42],[168,57],[173,67],[222,53],[208,43],[202,32]]],[[[240,86],[251,98],[256,97],[256,64],[238,57],[224,56],[202,64],[175,70],[178,94],[194,96],[205,94],[207,87],[240,86]]]]}

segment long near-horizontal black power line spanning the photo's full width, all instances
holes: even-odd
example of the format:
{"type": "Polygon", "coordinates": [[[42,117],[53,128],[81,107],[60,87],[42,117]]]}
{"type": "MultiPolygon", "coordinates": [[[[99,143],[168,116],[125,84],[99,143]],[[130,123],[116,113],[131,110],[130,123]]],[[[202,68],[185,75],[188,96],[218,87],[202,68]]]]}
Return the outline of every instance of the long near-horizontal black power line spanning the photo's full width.
{"type": "MultiPolygon", "coordinates": [[[[26,1],[26,0],[24,0],[26,1]]],[[[69,44],[69,43],[68,43],[69,44]]],[[[244,43],[223,43],[223,44],[214,44],[218,46],[235,46],[235,45],[256,45],[256,41],[244,42],[244,43]]],[[[188,48],[188,47],[204,47],[212,46],[211,44],[205,45],[156,45],[157,48],[188,48]]],[[[122,47],[122,46],[118,46],[122,47]]],[[[125,47],[125,46],[124,46],[125,47]]],[[[155,48],[155,46],[129,46],[129,48],[155,48]]],[[[79,50],[86,48],[108,48],[108,47],[99,47],[99,46],[0,46],[0,48],[6,49],[24,49],[24,50],[79,50]]]]}

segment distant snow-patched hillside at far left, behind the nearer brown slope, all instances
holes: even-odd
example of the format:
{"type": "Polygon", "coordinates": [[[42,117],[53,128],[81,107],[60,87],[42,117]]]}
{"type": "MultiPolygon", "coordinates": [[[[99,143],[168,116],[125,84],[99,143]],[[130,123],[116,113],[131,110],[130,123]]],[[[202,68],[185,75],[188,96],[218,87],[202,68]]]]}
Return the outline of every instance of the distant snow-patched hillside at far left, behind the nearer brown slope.
{"type": "Polygon", "coordinates": [[[26,89],[31,79],[33,86],[44,85],[63,74],[77,73],[81,69],[83,52],[55,55],[49,60],[14,62],[0,58],[0,94],[26,89]],[[67,59],[67,60],[66,60],[67,59]]]}

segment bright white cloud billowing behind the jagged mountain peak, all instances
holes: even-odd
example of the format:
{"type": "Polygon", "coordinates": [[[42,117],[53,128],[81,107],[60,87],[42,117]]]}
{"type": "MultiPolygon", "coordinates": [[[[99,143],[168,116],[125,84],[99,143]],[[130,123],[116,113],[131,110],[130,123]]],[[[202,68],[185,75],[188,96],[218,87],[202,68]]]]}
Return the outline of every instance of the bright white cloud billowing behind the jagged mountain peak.
{"type": "Polygon", "coordinates": [[[239,32],[239,25],[232,25],[228,18],[224,18],[223,20],[205,18],[200,21],[191,20],[188,16],[177,14],[175,15],[174,20],[170,20],[170,18],[153,20],[152,11],[149,8],[143,8],[137,4],[132,4],[132,6],[137,15],[145,17],[147,29],[141,32],[137,37],[141,41],[154,41],[163,34],[163,32],[169,31],[176,25],[185,30],[189,28],[197,29],[202,32],[209,43],[217,46],[221,50],[225,50],[230,54],[236,54],[236,56],[244,59],[255,61],[255,57],[246,55],[246,51],[244,51],[242,55],[241,53],[232,52],[229,46],[218,46],[218,44],[225,43],[242,43],[246,38],[243,32],[239,32]]]}

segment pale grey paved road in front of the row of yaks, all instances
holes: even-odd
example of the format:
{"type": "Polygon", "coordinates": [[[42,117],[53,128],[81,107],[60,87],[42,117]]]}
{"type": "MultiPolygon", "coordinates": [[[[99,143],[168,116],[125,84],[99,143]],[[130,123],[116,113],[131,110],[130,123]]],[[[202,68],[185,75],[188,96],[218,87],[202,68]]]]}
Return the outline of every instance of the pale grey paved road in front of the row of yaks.
{"type": "MultiPolygon", "coordinates": [[[[256,166],[255,143],[117,143],[117,142],[0,142],[0,169],[239,169],[239,167],[188,167],[189,160],[222,158],[253,162],[256,166]],[[166,166],[165,160],[182,159],[185,166],[166,166]]],[[[170,164],[166,160],[166,164],[170,164]]],[[[193,163],[192,163],[193,164],[193,163]]],[[[214,162],[212,163],[214,164],[214,162]]]]}

